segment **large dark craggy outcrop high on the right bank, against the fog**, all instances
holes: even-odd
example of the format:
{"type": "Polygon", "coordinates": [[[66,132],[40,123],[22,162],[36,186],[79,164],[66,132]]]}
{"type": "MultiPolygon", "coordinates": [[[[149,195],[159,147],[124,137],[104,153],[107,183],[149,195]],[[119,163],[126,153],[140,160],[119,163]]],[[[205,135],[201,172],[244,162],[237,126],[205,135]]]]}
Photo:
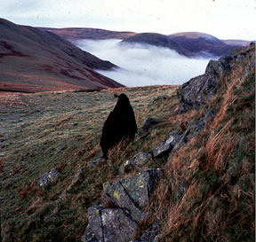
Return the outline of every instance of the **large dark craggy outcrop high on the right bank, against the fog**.
{"type": "Polygon", "coordinates": [[[230,70],[231,56],[222,57],[219,60],[211,60],[206,67],[205,73],[188,82],[185,82],[177,90],[180,101],[180,113],[191,109],[199,109],[205,100],[212,98],[218,89],[222,77],[230,70]]]}

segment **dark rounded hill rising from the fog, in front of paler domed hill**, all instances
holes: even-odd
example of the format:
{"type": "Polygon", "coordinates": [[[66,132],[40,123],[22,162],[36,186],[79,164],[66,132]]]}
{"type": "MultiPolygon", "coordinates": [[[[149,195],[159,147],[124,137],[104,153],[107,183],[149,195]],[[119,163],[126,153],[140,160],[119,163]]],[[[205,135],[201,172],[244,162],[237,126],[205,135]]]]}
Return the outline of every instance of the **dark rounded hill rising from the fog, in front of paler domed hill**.
{"type": "Polygon", "coordinates": [[[190,51],[184,49],[182,46],[180,46],[179,43],[174,42],[168,36],[156,33],[142,33],[138,35],[133,35],[131,37],[124,39],[121,43],[147,43],[158,47],[169,48],[173,51],[177,51],[179,54],[183,56],[193,56],[193,54],[190,51]]]}

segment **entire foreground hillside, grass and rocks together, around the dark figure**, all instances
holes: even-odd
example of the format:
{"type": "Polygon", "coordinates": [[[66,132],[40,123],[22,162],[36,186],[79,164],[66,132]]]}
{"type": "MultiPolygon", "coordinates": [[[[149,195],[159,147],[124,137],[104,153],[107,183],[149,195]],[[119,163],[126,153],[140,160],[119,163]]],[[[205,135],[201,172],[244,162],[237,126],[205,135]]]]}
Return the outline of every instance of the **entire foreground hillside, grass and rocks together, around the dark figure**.
{"type": "Polygon", "coordinates": [[[5,96],[0,113],[2,241],[253,241],[255,45],[180,87],[5,96]],[[100,162],[122,92],[138,137],[100,162]]]}

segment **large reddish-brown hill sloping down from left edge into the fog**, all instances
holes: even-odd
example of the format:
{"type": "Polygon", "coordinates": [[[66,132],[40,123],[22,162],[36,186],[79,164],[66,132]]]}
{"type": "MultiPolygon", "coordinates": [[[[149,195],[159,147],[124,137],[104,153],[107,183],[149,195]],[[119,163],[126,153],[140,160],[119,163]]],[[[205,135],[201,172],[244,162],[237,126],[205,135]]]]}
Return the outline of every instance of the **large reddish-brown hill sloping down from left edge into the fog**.
{"type": "Polygon", "coordinates": [[[92,70],[108,70],[114,66],[58,35],[0,19],[1,91],[121,87],[121,84],[92,70]]]}

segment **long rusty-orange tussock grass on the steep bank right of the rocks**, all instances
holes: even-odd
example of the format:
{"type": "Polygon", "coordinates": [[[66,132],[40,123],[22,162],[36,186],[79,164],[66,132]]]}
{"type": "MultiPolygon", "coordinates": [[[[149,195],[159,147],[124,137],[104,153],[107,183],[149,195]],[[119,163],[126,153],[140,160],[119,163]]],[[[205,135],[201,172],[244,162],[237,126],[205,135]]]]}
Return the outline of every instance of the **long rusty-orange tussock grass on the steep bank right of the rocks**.
{"type": "Polygon", "coordinates": [[[233,63],[201,111],[172,118],[172,126],[183,121],[186,129],[189,120],[215,113],[200,137],[167,161],[148,205],[156,219],[142,222],[137,236],[157,222],[160,241],[254,240],[255,67],[244,74],[252,58],[233,63]]]}

